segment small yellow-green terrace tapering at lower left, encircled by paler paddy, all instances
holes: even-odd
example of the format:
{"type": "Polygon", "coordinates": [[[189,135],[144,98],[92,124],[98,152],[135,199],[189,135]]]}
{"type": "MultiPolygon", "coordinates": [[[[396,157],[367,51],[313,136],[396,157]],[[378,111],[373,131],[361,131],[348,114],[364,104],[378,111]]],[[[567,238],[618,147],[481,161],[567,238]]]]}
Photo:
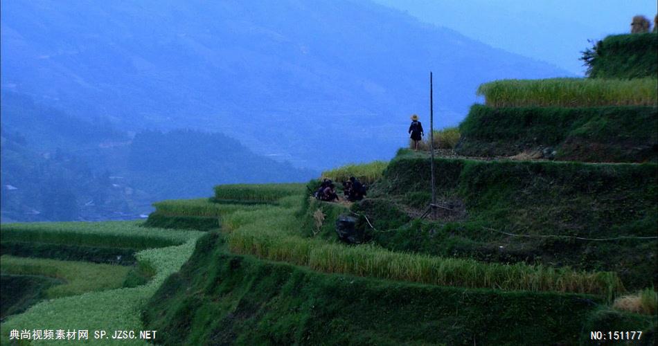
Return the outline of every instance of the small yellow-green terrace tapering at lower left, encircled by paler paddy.
{"type": "Polygon", "coordinates": [[[123,286],[123,282],[130,271],[128,266],[44,260],[8,255],[3,255],[0,260],[2,260],[3,274],[42,275],[64,280],[64,284],[46,289],[45,297],[49,299],[119,288],[123,286]]]}

